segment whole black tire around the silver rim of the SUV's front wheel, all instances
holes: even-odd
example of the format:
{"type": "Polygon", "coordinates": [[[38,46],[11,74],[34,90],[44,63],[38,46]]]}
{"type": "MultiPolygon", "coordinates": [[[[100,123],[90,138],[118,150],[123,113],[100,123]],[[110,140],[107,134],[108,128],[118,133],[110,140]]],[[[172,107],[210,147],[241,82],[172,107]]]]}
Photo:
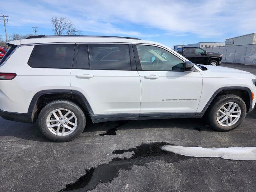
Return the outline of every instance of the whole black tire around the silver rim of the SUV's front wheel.
{"type": "Polygon", "coordinates": [[[208,123],[210,126],[216,130],[216,131],[221,131],[221,132],[226,132],[230,131],[236,127],[238,127],[243,121],[246,116],[246,104],[244,103],[244,100],[242,100],[240,97],[232,94],[225,94],[218,96],[212,101],[212,104],[209,106],[208,112],[206,114],[208,123]],[[236,123],[234,123],[231,126],[222,126],[221,124],[218,123],[217,121],[217,113],[218,110],[226,103],[229,102],[234,102],[238,104],[241,110],[241,115],[240,118],[236,123]]]}

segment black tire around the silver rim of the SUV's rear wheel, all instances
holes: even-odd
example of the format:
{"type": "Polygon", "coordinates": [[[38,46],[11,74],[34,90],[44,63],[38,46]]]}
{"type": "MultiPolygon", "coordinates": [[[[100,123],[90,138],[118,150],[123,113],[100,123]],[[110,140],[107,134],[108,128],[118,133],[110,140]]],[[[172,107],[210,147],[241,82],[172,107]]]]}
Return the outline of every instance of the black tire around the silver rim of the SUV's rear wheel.
{"type": "MultiPolygon", "coordinates": [[[[48,139],[56,142],[67,142],[75,139],[83,132],[86,125],[86,117],[83,110],[75,103],[68,100],[55,100],[46,104],[46,106],[44,106],[44,108],[40,111],[38,122],[39,122],[40,131],[48,139]],[[61,109],[61,108],[70,110],[76,116],[76,120],[77,120],[77,126],[75,130],[66,136],[58,136],[56,134],[53,134],[46,125],[46,119],[48,115],[53,110],[61,109]]],[[[64,132],[65,130],[67,129],[64,128],[64,132]]]]}

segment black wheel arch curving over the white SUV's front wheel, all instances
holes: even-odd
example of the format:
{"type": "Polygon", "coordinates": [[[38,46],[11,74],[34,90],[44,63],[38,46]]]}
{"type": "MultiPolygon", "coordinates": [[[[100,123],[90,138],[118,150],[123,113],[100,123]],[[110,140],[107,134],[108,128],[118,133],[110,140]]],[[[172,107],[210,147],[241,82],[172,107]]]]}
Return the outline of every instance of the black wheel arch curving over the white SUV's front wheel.
{"type": "Polygon", "coordinates": [[[252,91],[248,87],[243,86],[230,86],[222,87],[216,90],[210,100],[204,106],[202,112],[196,113],[196,115],[203,116],[209,106],[212,104],[212,101],[221,94],[234,94],[242,98],[246,104],[246,112],[252,111],[252,91]]]}

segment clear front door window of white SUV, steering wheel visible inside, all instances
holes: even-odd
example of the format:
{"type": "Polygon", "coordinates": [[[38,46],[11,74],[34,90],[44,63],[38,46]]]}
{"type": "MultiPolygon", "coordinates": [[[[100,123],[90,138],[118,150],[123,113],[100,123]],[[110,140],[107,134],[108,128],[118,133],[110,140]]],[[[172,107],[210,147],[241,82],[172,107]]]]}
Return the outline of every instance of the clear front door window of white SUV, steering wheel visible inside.
{"type": "Polygon", "coordinates": [[[184,71],[184,62],[160,47],[136,45],[142,70],[184,71]]]}

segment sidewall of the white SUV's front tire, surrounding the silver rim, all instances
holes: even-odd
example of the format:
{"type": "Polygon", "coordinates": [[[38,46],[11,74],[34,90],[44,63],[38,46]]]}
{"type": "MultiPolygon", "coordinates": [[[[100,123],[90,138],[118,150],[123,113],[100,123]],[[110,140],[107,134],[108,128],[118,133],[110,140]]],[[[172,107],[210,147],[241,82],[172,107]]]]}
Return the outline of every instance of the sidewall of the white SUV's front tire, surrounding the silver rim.
{"type": "Polygon", "coordinates": [[[234,97],[234,98],[230,97],[230,98],[225,98],[225,99],[217,102],[217,104],[214,107],[212,107],[212,110],[210,111],[210,114],[209,114],[209,120],[210,120],[211,124],[214,126],[214,129],[219,130],[219,131],[229,131],[229,130],[232,130],[232,129],[238,127],[244,121],[245,116],[246,116],[246,104],[244,103],[244,101],[242,99],[239,99],[236,97],[234,97]],[[240,116],[239,120],[234,125],[225,127],[218,123],[216,116],[217,116],[217,112],[220,109],[220,107],[228,102],[234,102],[240,106],[241,116],[240,116]]]}

